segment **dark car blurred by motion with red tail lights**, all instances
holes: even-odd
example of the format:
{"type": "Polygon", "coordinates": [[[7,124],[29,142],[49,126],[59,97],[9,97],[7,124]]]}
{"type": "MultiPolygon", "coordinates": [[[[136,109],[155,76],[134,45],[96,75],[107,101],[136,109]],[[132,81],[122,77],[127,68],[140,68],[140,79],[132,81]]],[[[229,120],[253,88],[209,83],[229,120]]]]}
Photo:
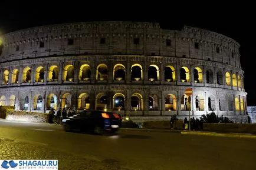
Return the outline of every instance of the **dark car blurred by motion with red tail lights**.
{"type": "Polygon", "coordinates": [[[62,120],[65,131],[75,129],[81,131],[104,134],[105,132],[116,132],[122,119],[113,112],[104,111],[83,111],[75,116],[62,120]]]}

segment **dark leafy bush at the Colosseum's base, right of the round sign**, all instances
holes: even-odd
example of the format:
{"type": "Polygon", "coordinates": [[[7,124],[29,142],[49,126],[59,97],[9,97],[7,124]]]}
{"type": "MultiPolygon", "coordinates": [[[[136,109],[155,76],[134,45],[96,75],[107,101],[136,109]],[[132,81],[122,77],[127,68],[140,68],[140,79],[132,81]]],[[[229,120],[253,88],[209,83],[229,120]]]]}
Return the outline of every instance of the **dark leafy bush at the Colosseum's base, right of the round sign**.
{"type": "Polygon", "coordinates": [[[206,114],[206,115],[202,115],[200,117],[200,120],[203,121],[204,123],[233,123],[233,121],[229,120],[226,116],[223,117],[223,115],[221,115],[221,117],[216,116],[215,112],[211,112],[210,114],[206,114]]]}

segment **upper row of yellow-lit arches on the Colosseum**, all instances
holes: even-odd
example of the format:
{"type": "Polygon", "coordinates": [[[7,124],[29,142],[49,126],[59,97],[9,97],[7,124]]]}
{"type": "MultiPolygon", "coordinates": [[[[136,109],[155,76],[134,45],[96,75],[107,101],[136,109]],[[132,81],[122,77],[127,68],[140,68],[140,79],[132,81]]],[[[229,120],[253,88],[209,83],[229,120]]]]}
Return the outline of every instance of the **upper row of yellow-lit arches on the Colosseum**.
{"type": "MultiPolygon", "coordinates": [[[[143,79],[143,68],[140,64],[134,64],[131,66],[130,78],[132,81],[139,81],[143,79]]],[[[74,66],[66,65],[64,66],[63,81],[74,81],[74,66]]],[[[166,82],[177,81],[176,71],[172,65],[166,65],[164,69],[163,78],[166,82]]],[[[189,68],[182,66],[179,70],[179,78],[181,82],[191,82],[191,73],[189,68]]],[[[2,84],[8,84],[9,82],[9,71],[6,69],[3,73],[2,84]]],[[[47,81],[58,81],[59,78],[59,68],[57,65],[51,65],[48,69],[47,81]]],[[[35,69],[34,81],[44,82],[45,69],[42,66],[38,66],[35,69]]],[[[96,68],[96,80],[107,81],[109,79],[109,68],[106,64],[99,64],[96,68]]],[[[79,81],[89,81],[91,78],[91,66],[88,64],[83,64],[80,66],[78,80],[79,81]]],[[[149,65],[147,68],[147,78],[149,81],[160,81],[160,69],[157,65],[149,65]]],[[[126,80],[126,67],[123,64],[116,64],[113,67],[113,79],[117,81],[126,80]]],[[[195,67],[193,69],[193,82],[203,83],[204,82],[204,72],[202,68],[195,67]]],[[[225,81],[226,85],[242,88],[242,79],[240,75],[231,74],[225,72],[225,80],[223,79],[222,71],[216,72],[216,84],[223,85],[225,81]],[[231,84],[232,82],[232,84],[231,84]]],[[[22,71],[21,82],[31,82],[31,68],[26,66],[22,71]]],[[[11,83],[19,83],[19,70],[14,69],[11,73],[11,83]]],[[[212,69],[206,70],[206,83],[214,83],[214,72],[212,69]]]]}

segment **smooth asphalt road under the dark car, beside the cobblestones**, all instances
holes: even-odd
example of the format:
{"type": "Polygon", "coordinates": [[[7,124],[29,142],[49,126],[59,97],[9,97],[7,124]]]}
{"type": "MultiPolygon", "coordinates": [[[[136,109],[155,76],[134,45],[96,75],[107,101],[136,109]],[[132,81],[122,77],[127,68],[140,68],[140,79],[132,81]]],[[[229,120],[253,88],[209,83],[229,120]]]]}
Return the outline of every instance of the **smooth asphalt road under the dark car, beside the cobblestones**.
{"type": "Polygon", "coordinates": [[[130,169],[256,169],[256,139],[126,130],[100,136],[64,132],[57,125],[2,121],[0,137],[130,169]]]}

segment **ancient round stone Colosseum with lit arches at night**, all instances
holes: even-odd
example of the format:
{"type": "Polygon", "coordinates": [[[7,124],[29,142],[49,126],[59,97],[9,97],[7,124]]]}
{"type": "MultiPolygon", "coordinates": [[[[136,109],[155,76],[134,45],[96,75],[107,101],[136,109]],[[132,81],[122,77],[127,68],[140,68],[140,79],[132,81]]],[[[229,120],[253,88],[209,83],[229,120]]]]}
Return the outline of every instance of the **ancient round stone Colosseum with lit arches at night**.
{"type": "Polygon", "coordinates": [[[214,111],[247,122],[239,46],[205,29],[150,22],[22,29],[0,36],[0,105],[100,109],[136,121],[214,111]]]}

